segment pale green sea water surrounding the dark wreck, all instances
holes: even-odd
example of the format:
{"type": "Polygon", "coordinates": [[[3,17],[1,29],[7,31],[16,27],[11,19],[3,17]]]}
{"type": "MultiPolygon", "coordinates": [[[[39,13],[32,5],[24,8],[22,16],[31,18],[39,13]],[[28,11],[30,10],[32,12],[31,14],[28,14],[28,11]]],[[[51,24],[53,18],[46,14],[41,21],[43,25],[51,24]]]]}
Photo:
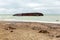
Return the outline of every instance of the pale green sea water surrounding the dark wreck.
{"type": "Polygon", "coordinates": [[[5,19],[59,22],[60,14],[44,14],[44,16],[13,16],[13,14],[0,14],[0,20],[5,19]]]}

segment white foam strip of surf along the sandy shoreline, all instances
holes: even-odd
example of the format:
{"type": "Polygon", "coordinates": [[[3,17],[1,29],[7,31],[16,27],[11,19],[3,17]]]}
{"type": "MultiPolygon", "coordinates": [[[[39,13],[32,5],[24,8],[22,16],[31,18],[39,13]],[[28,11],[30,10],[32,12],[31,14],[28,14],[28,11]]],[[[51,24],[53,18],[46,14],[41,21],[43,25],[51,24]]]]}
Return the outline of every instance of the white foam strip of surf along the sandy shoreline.
{"type": "Polygon", "coordinates": [[[40,22],[40,23],[56,23],[56,24],[60,24],[60,22],[36,21],[36,20],[17,20],[17,19],[0,19],[0,21],[40,22]]]}

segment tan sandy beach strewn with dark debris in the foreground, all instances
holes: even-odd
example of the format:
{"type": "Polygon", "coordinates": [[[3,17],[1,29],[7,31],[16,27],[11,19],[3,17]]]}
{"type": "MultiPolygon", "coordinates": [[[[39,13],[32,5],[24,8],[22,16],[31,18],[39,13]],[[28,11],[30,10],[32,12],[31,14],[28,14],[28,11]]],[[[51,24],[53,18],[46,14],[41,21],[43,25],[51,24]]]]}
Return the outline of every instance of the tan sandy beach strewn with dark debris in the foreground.
{"type": "Polygon", "coordinates": [[[0,21],[0,40],[60,40],[60,24],[0,21]]]}

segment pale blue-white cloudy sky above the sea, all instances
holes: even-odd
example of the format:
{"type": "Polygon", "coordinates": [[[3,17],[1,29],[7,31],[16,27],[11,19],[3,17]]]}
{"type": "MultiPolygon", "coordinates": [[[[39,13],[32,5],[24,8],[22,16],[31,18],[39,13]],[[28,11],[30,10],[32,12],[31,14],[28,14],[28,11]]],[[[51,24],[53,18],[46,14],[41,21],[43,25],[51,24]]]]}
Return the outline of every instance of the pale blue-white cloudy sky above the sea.
{"type": "Polygon", "coordinates": [[[22,12],[60,14],[60,0],[0,0],[0,14],[22,12]]]}

